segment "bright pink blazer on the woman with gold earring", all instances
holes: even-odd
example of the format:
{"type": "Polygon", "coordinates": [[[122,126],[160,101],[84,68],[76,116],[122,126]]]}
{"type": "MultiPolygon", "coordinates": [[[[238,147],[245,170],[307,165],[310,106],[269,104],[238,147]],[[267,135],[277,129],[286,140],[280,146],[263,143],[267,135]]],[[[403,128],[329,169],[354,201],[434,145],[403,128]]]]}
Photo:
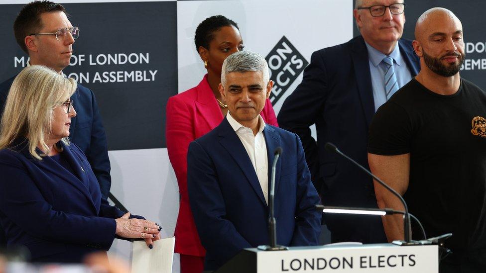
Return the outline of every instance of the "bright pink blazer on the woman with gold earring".
{"type": "MultiPolygon", "coordinates": [[[[207,75],[195,88],[172,96],[167,101],[165,139],[169,160],[179,184],[180,206],[174,236],[175,252],[204,257],[204,250],[194,224],[187,193],[187,149],[189,143],[213,130],[223,114],[211,90],[207,75]]],[[[267,99],[260,115],[265,123],[278,126],[275,112],[267,99]]]]}

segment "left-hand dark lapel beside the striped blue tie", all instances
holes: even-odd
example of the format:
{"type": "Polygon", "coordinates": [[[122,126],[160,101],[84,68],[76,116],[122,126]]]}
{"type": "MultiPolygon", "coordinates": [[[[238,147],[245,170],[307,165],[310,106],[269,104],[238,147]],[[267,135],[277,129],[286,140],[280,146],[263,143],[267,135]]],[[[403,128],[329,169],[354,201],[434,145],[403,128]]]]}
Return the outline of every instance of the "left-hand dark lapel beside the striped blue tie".
{"type": "Polygon", "coordinates": [[[353,59],[361,105],[365,111],[366,121],[369,126],[371,118],[374,115],[374,99],[371,73],[369,72],[368,52],[363,37],[359,36],[355,38],[351,44],[351,58],[353,59]]]}

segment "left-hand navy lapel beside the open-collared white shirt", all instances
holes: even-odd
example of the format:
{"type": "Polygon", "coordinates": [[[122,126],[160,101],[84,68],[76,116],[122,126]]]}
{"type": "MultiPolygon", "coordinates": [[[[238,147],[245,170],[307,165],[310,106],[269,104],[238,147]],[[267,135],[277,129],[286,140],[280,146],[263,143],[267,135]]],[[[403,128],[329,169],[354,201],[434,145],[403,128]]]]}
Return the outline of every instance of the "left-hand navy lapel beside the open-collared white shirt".
{"type": "Polygon", "coordinates": [[[240,169],[242,169],[243,174],[255,191],[256,195],[258,195],[260,201],[266,206],[267,204],[265,197],[263,196],[261,185],[258,181],[258,177],[256,176],[255,169],[253,168],[248,154],[243,147],[243,143],[231,127],[226,117],[218,126],[218,131],[218,135],[220,136],[219,142],[221,145],[223,145],[223,147],[225,147],[231,157],[233,157],[240,169]]]}

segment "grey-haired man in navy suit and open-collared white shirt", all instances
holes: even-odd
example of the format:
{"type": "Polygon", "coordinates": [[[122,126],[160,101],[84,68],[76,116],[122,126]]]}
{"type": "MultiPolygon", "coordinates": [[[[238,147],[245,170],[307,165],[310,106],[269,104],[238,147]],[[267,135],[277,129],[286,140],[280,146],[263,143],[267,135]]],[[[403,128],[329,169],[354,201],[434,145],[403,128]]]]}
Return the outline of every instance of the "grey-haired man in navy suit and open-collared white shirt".
{"type": "Polygon", "coordinates": [[[206,249],[206,270],[218,269],[243,248],[269,244],[267,203],[277,147],[283,149],[275,172],[277,243],[317,245],[321,231],[319,196],[299,137],[260,116],[273,86],[265,59],[249,51],[234,53],[221,75],[228,114],[191,142],[187,155],[189,200],[206,249]]]}

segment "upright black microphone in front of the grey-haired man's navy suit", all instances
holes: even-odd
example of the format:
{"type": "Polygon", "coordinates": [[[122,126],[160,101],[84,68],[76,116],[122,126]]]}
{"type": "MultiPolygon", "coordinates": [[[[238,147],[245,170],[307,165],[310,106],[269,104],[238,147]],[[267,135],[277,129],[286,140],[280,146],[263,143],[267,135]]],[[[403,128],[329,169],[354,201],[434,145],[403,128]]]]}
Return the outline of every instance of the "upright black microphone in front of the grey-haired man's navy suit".
{"type": "Polygon", "coordinates": [[[274,208],[274,198],[275,198],[275,170],[277,168],[278,158],[282,154],[282,147],[277,147],[273,154],[272,163],[272,176],[270,180],[270,194],[268,194],[268,236],[270,237],[269,246],[258,246],[260,250],[288,250],[288,247],[277,245],[277,226],[275,221],[275,208],[274,208]]]}

